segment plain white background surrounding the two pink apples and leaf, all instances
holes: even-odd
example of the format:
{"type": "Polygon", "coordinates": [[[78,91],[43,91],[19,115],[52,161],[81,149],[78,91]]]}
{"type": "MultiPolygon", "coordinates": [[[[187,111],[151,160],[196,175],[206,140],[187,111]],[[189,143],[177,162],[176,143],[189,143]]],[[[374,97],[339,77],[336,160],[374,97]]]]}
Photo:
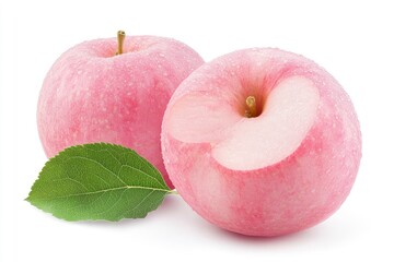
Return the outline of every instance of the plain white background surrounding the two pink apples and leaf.
{"type": "Polygon", "coordinates": [[[390,2],[1,1],[0,261],[394,261],[390,2]],[[146,219],[114,224],[67,223],[23,201],[46,162],[35,119],[46,72],[73,45],[118,29],[179,39],[207,61],[269,46],[326,68],[352,98],[363,134],[341,209],[309,230],[267,239],[218,229],[176,195],[146,219]]]}

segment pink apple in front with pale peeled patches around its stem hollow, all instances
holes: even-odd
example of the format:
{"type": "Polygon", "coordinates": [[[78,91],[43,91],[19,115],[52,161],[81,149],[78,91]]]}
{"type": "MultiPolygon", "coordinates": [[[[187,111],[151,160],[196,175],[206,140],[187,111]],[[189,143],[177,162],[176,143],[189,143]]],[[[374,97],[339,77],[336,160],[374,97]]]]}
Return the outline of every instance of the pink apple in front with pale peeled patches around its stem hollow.
{"type": "Polygon", "coordinates": [[[245,49],[194,71],[162,126],[165,167],[204,218],[278,236],[332,215],[354,184],[359,122],[338,82],[313,61],[245,49]]]}

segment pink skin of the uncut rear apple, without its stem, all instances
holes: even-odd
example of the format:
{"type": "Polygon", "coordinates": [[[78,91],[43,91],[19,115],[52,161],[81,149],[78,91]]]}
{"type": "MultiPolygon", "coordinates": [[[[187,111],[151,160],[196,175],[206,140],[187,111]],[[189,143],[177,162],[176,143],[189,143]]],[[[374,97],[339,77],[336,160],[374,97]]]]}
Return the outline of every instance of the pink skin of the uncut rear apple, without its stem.
{"type": "Polygon", "coordinates": [[[37,109],[45,153],[120,144],[151,162],[173,187],[161,155],[162,117],[175,88],[204,61],[185,44],[157,36],[127,36],[124,53],[116,51],[116,38],[84,41],[51,67],[37,109]]]}

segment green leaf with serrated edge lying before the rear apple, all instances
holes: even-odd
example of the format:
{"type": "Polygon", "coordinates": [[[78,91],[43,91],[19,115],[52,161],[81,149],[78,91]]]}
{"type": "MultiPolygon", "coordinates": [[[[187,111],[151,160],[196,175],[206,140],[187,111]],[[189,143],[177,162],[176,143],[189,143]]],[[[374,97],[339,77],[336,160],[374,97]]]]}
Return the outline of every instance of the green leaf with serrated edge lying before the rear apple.
{"type": "Polygon", "coordinates": [[[135,151],[95,143],[50,158],[26,200],[66,221],[119,221],[146,217],[172,192],[135,151]]]}

